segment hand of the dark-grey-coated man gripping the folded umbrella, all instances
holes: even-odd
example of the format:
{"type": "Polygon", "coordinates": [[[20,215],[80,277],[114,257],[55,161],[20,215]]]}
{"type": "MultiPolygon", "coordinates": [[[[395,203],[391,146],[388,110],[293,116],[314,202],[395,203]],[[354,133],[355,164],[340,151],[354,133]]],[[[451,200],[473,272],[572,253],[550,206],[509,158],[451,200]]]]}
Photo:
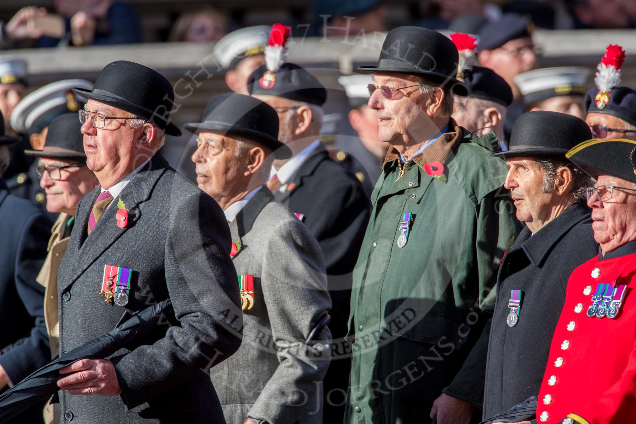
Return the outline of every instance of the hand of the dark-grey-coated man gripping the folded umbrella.
{"type": "Polygon", "coordinates": [[[60,369],[60,374],[73,373],[57,380],[60,390],[71,395],[116,396],[121,393],[113,362],[106,359],[80,359],[60,369]]]}

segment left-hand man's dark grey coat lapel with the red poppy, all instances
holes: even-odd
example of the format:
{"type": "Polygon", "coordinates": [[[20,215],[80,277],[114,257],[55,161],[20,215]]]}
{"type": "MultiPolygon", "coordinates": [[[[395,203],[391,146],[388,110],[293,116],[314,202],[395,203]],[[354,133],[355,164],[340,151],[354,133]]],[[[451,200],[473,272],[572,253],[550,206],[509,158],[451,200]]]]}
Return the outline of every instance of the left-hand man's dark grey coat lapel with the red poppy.
{"type": "Polygon", "coordinates": [[[73,258],[75,266],[70,273],[71,278],[68,278],[60,285],[61,291],[66,290],[67,287],[76,282],[84,271],[86,271],[105,250],[111,247],[123,233],[135,225],[135,222],[141,217],[139,204],[148,200],[156,182],[159,177],[163,175],[167,167],[168,163],[165,159],[159,154],[155,154],[148,165],[126,184],[116,199],[113,199],[115,204],[111,204],[110,207],[106,209],[104,215],[102,215],[99,222],[95,225],[95,228],[93,228],[93,231],[91,231],[92,235],[88,237],[85,236],[87,232],[86,226],[88,226],[88,216],[90,215],[93,203],[95,203],[95,199],[100,193],[100,187],[95,189],[92,195],[86,196],[86,200],[89,200],[89,202],[87,202],[88,205],[83,204],[81,206],[81,209],[78,211],[80,212],[80,216],[76,218],[78,219],[76,225],[79,226],[77,229],[81,231],[81,235],[76,238],[78,250],[73,258]],[[116,202],[120,198],[126,203],[128,210],[128,224],[124,228],[120,228],[115,219],[118,210],[116,202]],[[83,238],[85,238],[85,240],[82,243],[81,240],[83,238]]]}

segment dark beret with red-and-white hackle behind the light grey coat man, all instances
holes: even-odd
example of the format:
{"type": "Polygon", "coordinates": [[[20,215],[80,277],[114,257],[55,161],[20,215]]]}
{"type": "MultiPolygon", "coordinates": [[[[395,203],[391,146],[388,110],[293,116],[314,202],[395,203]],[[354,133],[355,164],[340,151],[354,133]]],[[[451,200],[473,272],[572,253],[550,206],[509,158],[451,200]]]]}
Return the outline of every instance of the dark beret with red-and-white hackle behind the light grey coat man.
{"type": "Polygon", "coordinates": [[[264,82],[266,65],[261,65],[247,79],[247,92],[251,95],[265,94],[298,102],[322,106],[327,100],[327,90],[315,76],[299,65],[284,63],[275,72],[274,79],[264,82]]]}

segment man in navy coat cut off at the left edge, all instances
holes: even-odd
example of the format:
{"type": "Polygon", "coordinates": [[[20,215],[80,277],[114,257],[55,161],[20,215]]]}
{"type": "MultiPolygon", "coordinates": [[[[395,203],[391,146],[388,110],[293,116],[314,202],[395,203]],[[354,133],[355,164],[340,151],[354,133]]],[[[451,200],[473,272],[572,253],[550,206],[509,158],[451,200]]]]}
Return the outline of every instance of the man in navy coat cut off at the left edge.
{"type": "MultiPolygon", "coordinates": [[[[0,392],[50,361],[42,305],[45,289],[36,275],[46,256],[48,217],[28,200],[12,195],[4,181],[10,151],[19,137],[4,133],[0,113],[0,392]]],[[[41,421],[41,407],[19,414],[10,423],[41,421]]]]}

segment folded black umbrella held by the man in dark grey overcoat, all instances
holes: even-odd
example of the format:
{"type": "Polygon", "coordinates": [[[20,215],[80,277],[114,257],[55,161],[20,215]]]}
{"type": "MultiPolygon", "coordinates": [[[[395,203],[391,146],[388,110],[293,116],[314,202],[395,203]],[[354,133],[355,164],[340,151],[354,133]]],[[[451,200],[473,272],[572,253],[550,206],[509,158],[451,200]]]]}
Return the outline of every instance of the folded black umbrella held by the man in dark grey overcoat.
{"type": "Polygon", "coordinates": [[[0,395],[0,423],[55,394],[59,390],[57,380],[62,378],[60,369],[79,359],[104,359],[121,348],[132,348],[134,345],[154,341],[149,336],[160,338],[157,334],[165,334],[165,330],[157,332],[158,327],[166,324],[167,329],[167,324],[173,320],[174,311],[170,299],[139,312],[127,311],[111,331],[64,353],[0,395]]]}

